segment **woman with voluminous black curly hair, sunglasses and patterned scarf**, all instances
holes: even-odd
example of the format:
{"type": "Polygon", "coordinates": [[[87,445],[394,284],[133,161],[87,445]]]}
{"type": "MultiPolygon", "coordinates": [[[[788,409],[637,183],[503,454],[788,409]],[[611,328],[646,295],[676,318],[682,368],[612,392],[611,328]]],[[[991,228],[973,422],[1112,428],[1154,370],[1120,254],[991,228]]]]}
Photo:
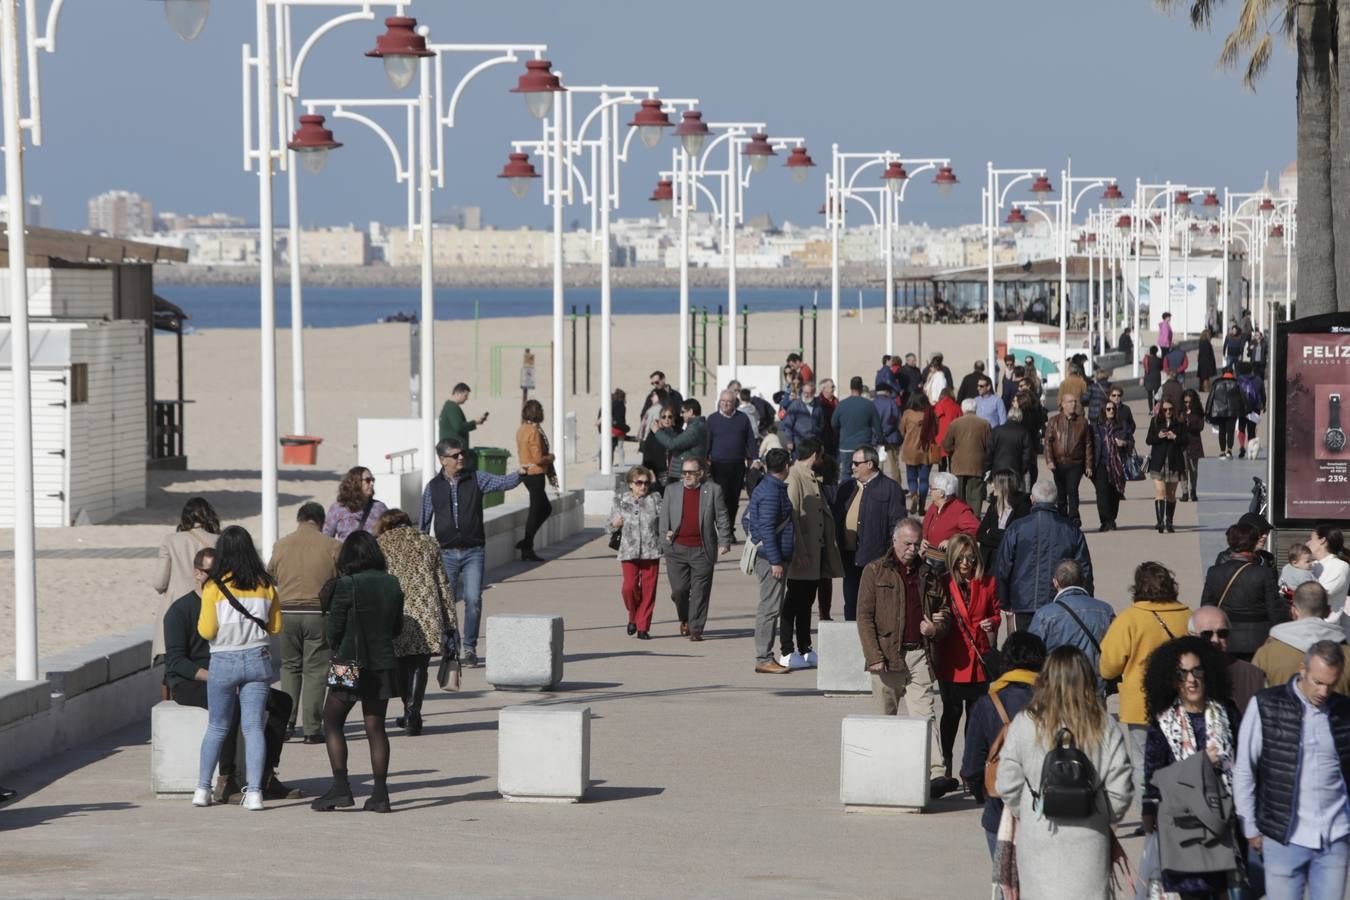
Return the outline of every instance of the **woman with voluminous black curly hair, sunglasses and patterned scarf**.
{"type": "MultiPolygon", "coordinates": [[[[1149,733],[1143,749],[1143,797],[1141,801],[1143,833],[1154,835],[1161,793],[1153,780],[1160,769],[1204,753],[1233,791],[1230,775],[1238,711],[1230,700],[1228,665],[1210,641],[1180,637],[1153,650],[1143,676],[1143,695],[1149,712],[1149,733]]],[[[1233,846],[1237,841],[1235,814],[1228,822],[1233,846]]],[[[1150,838],[1158,841],[1158,837],[1150,838]]],[[[1157,847],[1161,858],[1161,847],[1157,847]]],[[[1174,857],[1169,853],[1168,857],[1174,857]]],[[[1184,897],[1219,899],[1228,896],[1239,866],[1237,851],[1233,865],[1216,872],[1176,872],[1160,866],[1157,878],[1162,891],[1184,897]]],[[[1146,873],[1148,877],[1148,873],[1146,873]]]]}

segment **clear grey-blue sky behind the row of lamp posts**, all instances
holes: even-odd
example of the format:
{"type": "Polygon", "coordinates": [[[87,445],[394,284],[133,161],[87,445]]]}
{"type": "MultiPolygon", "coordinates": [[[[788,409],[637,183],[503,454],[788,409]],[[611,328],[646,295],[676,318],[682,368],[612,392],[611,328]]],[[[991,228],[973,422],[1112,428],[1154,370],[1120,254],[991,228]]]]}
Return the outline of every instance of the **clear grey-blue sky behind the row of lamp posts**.
{"type": "MultiPolygon", "coordinates": [[[[140,193],[157,212],[258,220],[240,127],[240,45],[254,40],[254,5],[215,0],[205,31],[184,43],[158,3],[66,3],[57,53],[40,59],[43,146],[26,155],[27,193],[43,196],[46,224],[84,228],[88,200],[109,189],[140,193]]],[[[1295,155],[1293,54],[1277,42],[1257,93],[1220,70],[1235,5],[1219,11],[1212,32],[1150,0],[417,0],[408,12],[431,26],[432,42],[547,43],[564,84],[656,85],[699,99],[710,121],[761,120],[770,134],[805,136],[818,165],[811,177],[798,185],[776,161],[752,179],[747,217],[821,221],[838,143],[949,157],[960,186],[940,197],[917,179],[902,216],[950,225],[980,220],[987,161],[1046,167],[1058,182],[1072,155],[1075,174],[1119,178],[1127,194],[1135,177],[1254,190],[1269,171],[1273,185],[1295,155]]],[[[389,4],[374,8],[377,22],[340,26],[315,45],[302,97],[416,96],[416,81],[397,92],[379,61],[362,55],[392,15],[389,4]]],[[[335,13],[297,8],[297,46],[335,13]]],[[[482,58],[447,57],[447,97],[482,58]]],[[[508,93],[520,70],[497,66],[466,88],[447,132],[437,213],[477,205],[489,224],[549,227],[537,186],[517,201],[495,177],[513,139],[540,134],[522,99],[508,93]]],[[[402,143],[402,112],[386,112],[402,143]]],[[[301,181],[301,223],[405,221],[406,196],[383,143],[355,123],[331,124],[346,146],[301,181]]],[[[633,142],[620,216],[652,213],[647,197],[674,146],[670,138],[644,151],[633,142]]],[[[284,179],[275,197],[281,224],[284,179]]],[[[578,206],[566,220],[589,215],[578,206]]]]}

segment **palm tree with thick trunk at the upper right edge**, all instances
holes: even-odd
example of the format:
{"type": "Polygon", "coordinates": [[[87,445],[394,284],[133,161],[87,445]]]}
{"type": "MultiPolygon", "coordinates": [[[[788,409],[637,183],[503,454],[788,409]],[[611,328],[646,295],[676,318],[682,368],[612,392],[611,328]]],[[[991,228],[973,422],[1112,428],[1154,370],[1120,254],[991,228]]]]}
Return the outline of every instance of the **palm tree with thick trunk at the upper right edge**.
{"type": "MultiPolygon", "coordinates": [[[[1168,11],[1188,7],[1191,26],[1208,28],[1222,0],[1154,3],[1168,11]]],[[[1292,39],[1297,53],[1299,314],[1350,309],[1350,198],[1335,202],[1350,188],[1350,161],[1342,155],[1350,142],[1339,134],[1341,123],[1350,125],[1350,92],[1347,108],[1341,109],[1338,89],[1342,63],[1350,78],[1350,0],[1242,0],[1219,63],[1237,67],[1245,58],[1242,82],[1256,90],[1276,34],[1292,39]],[[1338,5],[1345,7],[1345,16],[1338,16],[1338,5]],[[1338,19],[1347,34],[1338,35],[1338,19]],[[1338,46],[1346,53],[1338,54],[1338,46]],[[1332,184],[1341,188],[1335,194],[1332,184]]]]}

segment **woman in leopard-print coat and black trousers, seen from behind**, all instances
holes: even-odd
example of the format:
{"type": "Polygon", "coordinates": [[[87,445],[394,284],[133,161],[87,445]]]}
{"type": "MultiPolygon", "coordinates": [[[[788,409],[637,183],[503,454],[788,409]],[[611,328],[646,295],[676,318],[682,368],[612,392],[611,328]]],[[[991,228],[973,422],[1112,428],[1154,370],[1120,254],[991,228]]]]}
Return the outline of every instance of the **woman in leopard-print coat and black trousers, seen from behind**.
{"type": "Polygon", "coordinates": [[[394,723],[406,727],[409,737],[417,737],[431,657],[441,652],[443,636],[454,646],[459,633],[455,592],[440,560],[440,544],[413,528],[408,513],[389,510],[375,528],[389,573],[404,590],[404,630],[394,638],[404,714],[394,723]]]}

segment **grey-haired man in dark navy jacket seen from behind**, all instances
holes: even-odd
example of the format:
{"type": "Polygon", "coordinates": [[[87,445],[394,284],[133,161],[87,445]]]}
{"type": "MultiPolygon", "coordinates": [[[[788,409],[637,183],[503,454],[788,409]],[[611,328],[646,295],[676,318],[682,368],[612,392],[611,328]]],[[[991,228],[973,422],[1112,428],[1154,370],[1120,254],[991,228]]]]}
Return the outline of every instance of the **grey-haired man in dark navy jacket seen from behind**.
{"type": "Polygon", "coordinates": [[[1031,511],[1010,524],[994,561],[999,609],[1025,631],[1038,609],[1054,599],[1054,567],[1075,560],[1083,567],[1083,587],[1092,592],[1092,555],[1083,532],[1058,511],[1054,482],[1031,486],[1031,511]]]}

